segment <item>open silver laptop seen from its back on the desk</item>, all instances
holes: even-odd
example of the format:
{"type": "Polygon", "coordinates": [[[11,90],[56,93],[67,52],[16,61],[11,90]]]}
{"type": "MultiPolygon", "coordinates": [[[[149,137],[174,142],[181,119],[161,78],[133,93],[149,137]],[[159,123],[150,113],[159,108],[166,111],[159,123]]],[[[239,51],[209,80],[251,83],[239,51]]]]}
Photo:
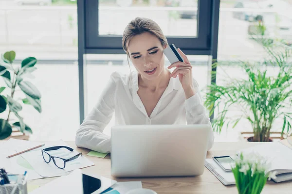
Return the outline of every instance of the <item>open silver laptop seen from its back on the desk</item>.
{"type": "Polygon", "coordinates": [[[124,125],[111,128],[114,177],[203,174],[210,125],[124,125]]]}

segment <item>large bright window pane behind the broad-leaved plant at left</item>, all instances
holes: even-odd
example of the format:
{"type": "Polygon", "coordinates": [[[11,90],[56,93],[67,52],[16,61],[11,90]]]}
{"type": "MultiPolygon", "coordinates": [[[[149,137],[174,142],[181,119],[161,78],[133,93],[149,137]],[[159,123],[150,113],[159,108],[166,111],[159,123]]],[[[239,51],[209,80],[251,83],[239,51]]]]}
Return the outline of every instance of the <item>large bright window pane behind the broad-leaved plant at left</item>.
{"type": "MultiPolygon", "coordinates": [[[[76,1],[0,0],[0,53],[8,50],[16,51],[14,65],[29,56],[38,60],[26,79],[40,91],[42,113],[15,93],[23,107],[19,115],[33,130],[30,140],[73,141],[79,126],[76,1]]],[[[6,86],[2,78],[0,86],[6,86]]]]}

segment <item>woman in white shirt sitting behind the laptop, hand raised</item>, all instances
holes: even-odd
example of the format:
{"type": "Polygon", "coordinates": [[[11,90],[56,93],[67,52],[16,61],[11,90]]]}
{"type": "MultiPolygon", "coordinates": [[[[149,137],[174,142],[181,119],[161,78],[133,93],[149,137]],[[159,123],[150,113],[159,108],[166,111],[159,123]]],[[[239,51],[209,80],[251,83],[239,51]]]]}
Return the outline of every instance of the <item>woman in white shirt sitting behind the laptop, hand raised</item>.
{"type": "MultiPolygon", "coordinates": [[[[111,74],[96,106],[76,132],[76,146],[110,153],[110,136],[103,130],[113,112],[116,125],[211,125],[198,83],[192,77],[192,66],[181,49],[184,63],[164,68],[163,50],[168,43],[154,21],[135,18],[126,27],[122,42],[137,72],[111,74]],[[172,73],[171,68],[175,68],[172,73]]],[[[212,131],[208,149],[213,142],[212,131]]]]}

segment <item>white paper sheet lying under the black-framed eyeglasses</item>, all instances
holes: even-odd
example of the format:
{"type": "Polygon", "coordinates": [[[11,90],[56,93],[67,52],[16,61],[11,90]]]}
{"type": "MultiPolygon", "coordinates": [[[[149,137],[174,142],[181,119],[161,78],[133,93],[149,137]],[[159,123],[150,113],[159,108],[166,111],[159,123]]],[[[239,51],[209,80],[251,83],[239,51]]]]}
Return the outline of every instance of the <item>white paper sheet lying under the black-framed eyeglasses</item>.
{"type": "MultiPolygon", "coordinates": [[[[33,166],[35,171],[44,178],[47,177],[56,177],[56,176],[62,176],[66,172],[72,171],[74,169],[78,168],[84,168],[88,166],[94,165],[93,162],[88,160],[85,156],[79,156],[77,159],[74,159],[73,161],[66,162],[66,167],[64,169],[60,169],[55,166],[53,160],[51,162],[46,163],[42,157],[41,149],[44,149],[46,147],[52,147],[52,146],[68,146],[63,141],[56,141],[56,142],[49,142],[46,143],[45,146],[37,148],[34,151],[30,151],[27,153],[22,154],[22,157],[33,166]]],[[[52,156],[57,156],[64,159],[69,159],[79,152],[73,150],[72,152],[68,149],[61,148],[58,150],[49,151],[52,156]]]]}

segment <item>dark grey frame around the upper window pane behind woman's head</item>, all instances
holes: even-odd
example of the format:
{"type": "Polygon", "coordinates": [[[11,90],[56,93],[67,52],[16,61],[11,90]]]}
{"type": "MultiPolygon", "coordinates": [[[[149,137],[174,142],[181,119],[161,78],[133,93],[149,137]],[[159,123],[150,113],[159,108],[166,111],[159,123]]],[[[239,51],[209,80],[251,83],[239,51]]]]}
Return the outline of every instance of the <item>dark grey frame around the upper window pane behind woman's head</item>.
{"type": "MultiPolygon", "coordinates": [[[[169,44],[175,44],[186,54],[211,54],[212,0],[198,0],[197,36],[166,36],[169,44]],[[206,33],[207,32],[207,33],[206,33]]],[[[99,1],[84,0],[86,53],[123,54],[121,35],[99,35],[99,1]]]]}

